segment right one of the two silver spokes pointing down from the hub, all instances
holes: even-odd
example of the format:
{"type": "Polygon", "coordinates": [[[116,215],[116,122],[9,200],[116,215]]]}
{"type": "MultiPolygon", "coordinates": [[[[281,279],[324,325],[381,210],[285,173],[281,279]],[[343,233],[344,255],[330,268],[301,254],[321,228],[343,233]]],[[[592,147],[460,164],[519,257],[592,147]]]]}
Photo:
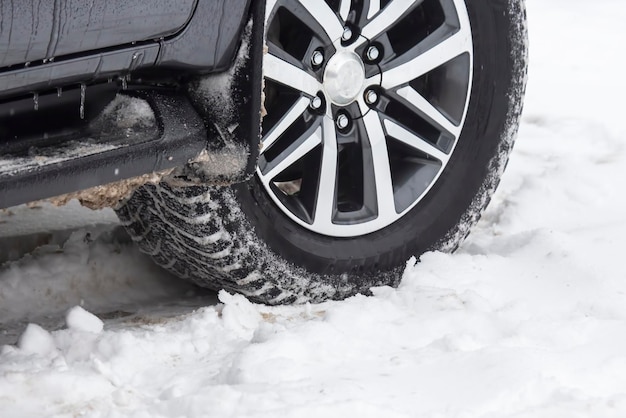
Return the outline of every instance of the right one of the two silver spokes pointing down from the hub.
{"type": "Polygon", "coordinates": [[[369,112],[363,117],[372,150],[372,165],[376,185],[376,203],[379,218],[391,218],[396,215],[396,206],[391,182],[391,167],[387,140],[382,123],[375,112],[369,112]]]}

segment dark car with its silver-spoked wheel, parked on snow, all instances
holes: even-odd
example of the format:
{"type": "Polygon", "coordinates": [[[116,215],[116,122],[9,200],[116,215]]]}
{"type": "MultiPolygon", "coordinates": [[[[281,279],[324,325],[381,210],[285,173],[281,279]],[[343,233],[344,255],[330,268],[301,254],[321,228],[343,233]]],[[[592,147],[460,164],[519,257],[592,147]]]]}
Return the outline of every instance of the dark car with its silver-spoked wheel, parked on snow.
{"type": "Polygon", "coordinates": [[[506,166],[523,0],[0,0],[0,207],[113,207],[267,304],[395,286],[506,166]]]}

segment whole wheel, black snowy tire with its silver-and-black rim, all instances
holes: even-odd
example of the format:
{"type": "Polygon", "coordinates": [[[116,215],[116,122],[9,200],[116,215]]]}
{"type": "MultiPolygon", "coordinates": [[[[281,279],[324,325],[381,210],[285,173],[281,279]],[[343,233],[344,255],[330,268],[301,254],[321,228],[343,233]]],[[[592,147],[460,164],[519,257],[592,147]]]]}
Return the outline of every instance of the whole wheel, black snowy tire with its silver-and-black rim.
{"type": "Polygon", "coordinates": [[[456,249],[516,136],[523,1],[269,1],[266,31],[256,175],[142,186],[117,209],[141,250],[280,304],[395,286],[411,256],[456,249]]]}

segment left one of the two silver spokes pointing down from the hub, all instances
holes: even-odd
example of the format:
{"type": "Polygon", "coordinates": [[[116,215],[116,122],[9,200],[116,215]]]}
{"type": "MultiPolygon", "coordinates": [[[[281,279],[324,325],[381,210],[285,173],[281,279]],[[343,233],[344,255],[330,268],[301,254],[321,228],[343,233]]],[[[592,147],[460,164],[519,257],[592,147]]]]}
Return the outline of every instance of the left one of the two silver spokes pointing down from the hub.
{"type": "Polygon", "coordinates": [[[337,133],[332,119],[324,118],[324,148],[320,168],[320,180],[315,203],[316,227],[332,224],[335,210],[335,185],[337,184],[337,133]]]}

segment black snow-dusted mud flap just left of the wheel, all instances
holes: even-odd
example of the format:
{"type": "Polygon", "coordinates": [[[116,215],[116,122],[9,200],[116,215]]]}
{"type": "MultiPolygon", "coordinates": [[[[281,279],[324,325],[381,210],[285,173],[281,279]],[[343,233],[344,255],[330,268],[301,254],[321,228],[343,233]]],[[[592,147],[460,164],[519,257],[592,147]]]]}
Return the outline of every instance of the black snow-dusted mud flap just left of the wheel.
{"type": "Polygon", "coordinates": [[[207,121],[209,146],[184,169],[202,184],[233,184],[255,172],[261,143],[265,2],[253,1],[231,68],[201,77],[188,93],[207,121]]]}

